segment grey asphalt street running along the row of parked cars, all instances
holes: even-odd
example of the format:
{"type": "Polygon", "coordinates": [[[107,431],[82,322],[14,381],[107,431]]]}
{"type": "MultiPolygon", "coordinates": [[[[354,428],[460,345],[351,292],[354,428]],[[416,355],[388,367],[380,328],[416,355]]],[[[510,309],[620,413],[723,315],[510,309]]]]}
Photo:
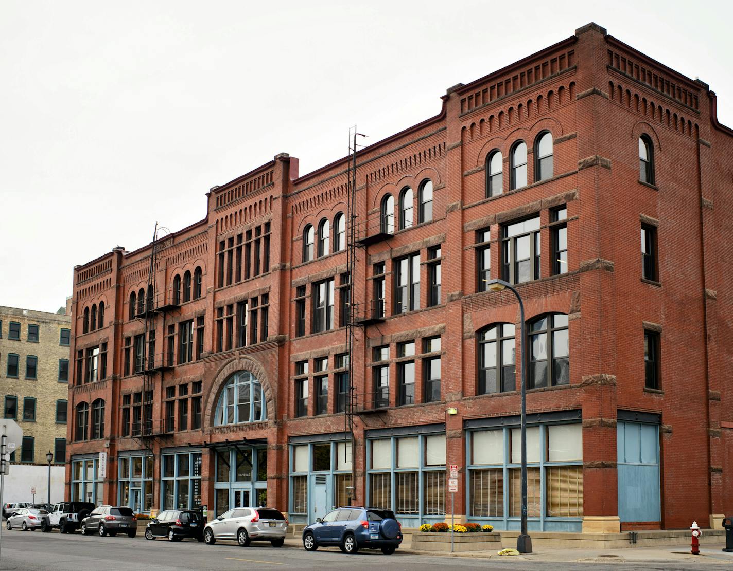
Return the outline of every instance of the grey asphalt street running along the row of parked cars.
{"type": "Polygon", "coordinates": [[[356,555],[346,555],[337,549],[320,549],[314,553],[303,548],[273,548],[268,543],[253,543],[241,548],[235,542],[217,542],[205,545],[185,540],[171,543],[166,540],[147,541],[141,537],[83,537],[78,533],[62,535],[57,532],[42,534],[40,531],[2,531],[0,570],[128,570],[183,571],[226,570],[249,571],[275,569],[348,569],[379,570],[444,570],[479,569],[492,570],[699,570],[700,564],[599,564],[557,563],[527,561],[523,559],[468,559],[442,556],[394,553],[387,556],[380,552],[364,550],[356,555]]]}

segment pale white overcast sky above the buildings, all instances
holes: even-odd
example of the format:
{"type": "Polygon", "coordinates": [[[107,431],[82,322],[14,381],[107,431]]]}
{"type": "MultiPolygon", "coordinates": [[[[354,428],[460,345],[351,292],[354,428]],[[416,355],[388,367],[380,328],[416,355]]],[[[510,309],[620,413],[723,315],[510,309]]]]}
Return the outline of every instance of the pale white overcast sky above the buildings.
{"type": "Polygon", "coordinates": [[[595,21],[718,93],[729,1],[0,3],[0,305],[56,311],[73,266],[176,231],[279,152],[301,174],[595,21]],[[534,4],[534,6],[533,6],[534,4]]]}

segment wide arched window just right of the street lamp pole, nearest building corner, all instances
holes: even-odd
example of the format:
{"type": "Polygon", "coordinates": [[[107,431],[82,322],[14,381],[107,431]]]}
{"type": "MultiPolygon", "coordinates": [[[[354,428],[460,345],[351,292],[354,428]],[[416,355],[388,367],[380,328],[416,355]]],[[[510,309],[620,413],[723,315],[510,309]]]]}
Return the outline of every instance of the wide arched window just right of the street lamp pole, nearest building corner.
{"type": "Polygon", "coordinates": [[[564,313],[548,313],[529,323],[529,388],[570,383],[567,332],[564,313]]]}

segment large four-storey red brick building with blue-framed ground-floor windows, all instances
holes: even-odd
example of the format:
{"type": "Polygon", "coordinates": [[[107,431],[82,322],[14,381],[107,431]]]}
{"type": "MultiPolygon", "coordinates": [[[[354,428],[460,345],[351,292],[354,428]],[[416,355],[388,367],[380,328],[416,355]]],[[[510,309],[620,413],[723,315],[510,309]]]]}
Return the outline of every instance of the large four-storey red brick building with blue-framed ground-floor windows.
{"type": "Polygon", "coordinates": [[[455,512],[518,529],[520,318],[485,291],[500,277],[526,305],[530,529],[733,511],[715,94],[589,24],[441,99],[358,152],[353,306],[347,158],[301,175],[278,154],[158,236],[153,266],[147,245],[75,268],[70,496],[312,521],[353,469],[356,503],[415,525],[449,511],[455,464],[455,512]]]}

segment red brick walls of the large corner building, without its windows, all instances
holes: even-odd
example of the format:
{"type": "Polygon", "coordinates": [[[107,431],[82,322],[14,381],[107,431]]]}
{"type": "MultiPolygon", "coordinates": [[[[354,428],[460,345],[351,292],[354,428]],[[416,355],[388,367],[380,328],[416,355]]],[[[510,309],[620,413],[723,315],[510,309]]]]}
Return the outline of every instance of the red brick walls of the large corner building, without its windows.
{"type": "MultiPolygon", "coordinates": [[[[558,367],[556,373],[550,373],[549,384],[554,386],[528,391],[531,425],[537,427],[539,438],[543,438],[542,444],[537,444],[538,454],[544,458],[538,460],[537,474],[541,475],[537,482],[549,486],[546,480],[561,472],[556,469],[567,469],[573,478],[581,473],[581,488],[576,486],[576,490],[581,489],[582,501],[580,510],[576,502],[575,511],[567,512],[571,514],[567,518],[553,518],[554,500],[545,492],[538,492],[542,506],[536,507],[537,518],[531,520],[531,529],[579,530],[584,516],[613,521],[624,502],[635,502],[630,496],[633,493],[640,494],[641,502],[646,501],[644,494],[655,495],[659,513],[643,521],[622,516],[624,528],[686,527],[692,520],[707,522],[711,514],[731,511],[733,391],[724,372],[733,365],[728,335],[733,286],[726,280],[730,265],[726,251],[733,242],[733,227],[726,217],[733,207],[732,173],[726,157],[733,150],[733,132],[715,119],[715,94],[701,81],[679,75],[591,24],[578,29],[567,40],[503,70],[468,85],[452,87],[442,100],[437,116],[358,153],[354,214],[359,238],[372,243],[357,253],[353,302],[362,313],[365,308],[371,309],[375,271],[377,264],[384,262],[386,318],[356,332],[353,390],[361,412],[354,428],[356,502],[373,504],[379,491],[369,490],[369,478],[375,477],[372,472],[377,452],[369,452],[369,446],[375,446],[370,444],[374,438],[419,436],[419,447],[428,447],[432,446],[427,444],[428,433],[446,437],[445,459],[438,460],[438,464],[430,464],[426,458],[419,462],[419,477],[414,482],[424,490],[419,493],[420,506],[393,506],[407,512],[403,519],[412,518],[412,523],[431,517],[442,519],[440,507],[433,505],[443,501],[436,499],[440,496],[435,491],[438,488],[427,491],[427,482],[434,477],[438,481],[442,476],[430,472],[429,466],[461,467],[455,512],[472,520],[478,518],[479,508],[469,489],[469,480],[474,476],[467,466],[476,470],[476,479],[482,474],[503,474],[505,479],[515,474],[509,466],[515,453],[510,452],[511,444],[500,453],[504,471],[499,467],[493,475],[490,470],[479,474],[475,447],[471,455],[473,438],[478,441],[479,436],[468,436],[471,430],[507,427],[502,434],[509,442],[519,410],[519,394],[512,387],[504,392],[480,394],[479,331],[492,324],[515,324],[518,356],[520,319],[509,291],[479,291],[477,231],[488,228],[484,246],[490,250],[490,277],[503,277],[502,233],[510,231],[507,228],[511,223],[539,217],[537,229],[533,230],[537,234],[527,239],[527,244],[532,244],[528,246],[532,255],[538,253],[539,259],[536,267],[529,261],[526,270],[539,275],[531,275],[536,279],[521,283],[518,291],[529,322],[538,324],[537,318],[552,313],[560,314],[558,329],[564,329],[562,324],[567,322],[570,365],[563,369],[562,359],[550,361],[550,370],[558,367]],[[534,182],[540,178],[535,172],[540,161],[534,141],[544,132],[552,135],[553,165],[549,176],[534,182]],[[649,183],[640,182],[641,135],[649,138],[653,149],[655,178],[649,183]],[[512,167],[517,161],[512,163],[509,157],[520,140],[528,146],[528,184],[517,184],[512,190],[512,167]],[[494,149],[501,151],[503,157],[503,192],[487,198],[486,164],[494,149]],[[419,190],[426,180],[433,187],[432,220],[422,222],[418,214],[419,190]],[[399,229],[397,203],[405,187],[413,190],[410,215],[414,223],[410,228],[399,229]],[[393,235],[379,239],[380,207],[387,194],[396,203],[396,229],[393,235]],[[565,209],[567,215],[563,217],[558,209],[565,209]],[[641,274],[641,225],[655,228],[655,279],[644,279],[641,274]],[[557,256],[553,255],[553,248],[556,231],[563,227],[567,228],[567,264],[563,267],[567,271],[555,275],[557,256]],[[439,258],[431,262],[435,247],[440,247],[439,258]],[[414,294],[415,299],[419,296],[419,309],[408,307],[406,313],[397,313],[398,274],[403,269],[407,271],[400,260],[416,253],[420,263],[408,264],[412,274],[407,279],[416,282],[419,278],[419,294],[408,285],[405,291],[410,293],[405,295],[414,294]],[[431,264],[436,260],[441,264],[441,292],[438,303],[429,307],[431,264]],[[645,330],[659,335],[657,388],[645,386],[645,330]],[[436,336],[441,339],[439,351],[426,351],[423,343],[436,336]],[[411,359],[398,354],[400,343],[409,340],[415,342],[416,356],[411,359]],[[373,383],[377,375],[374,350],[381,346],[389,348],[388,358],[380,362],[388,367],[388,408],[373,411],[373,383]],[[423,379],[427,359],[431,357],[441,359],[441,387],[438,400],[425,402],[423,379]],[[414,362],[416,380],[414,401],[399,406],[399,375],[405,368],[402,364],[410,361],[414,362]],[[449,407],[457,408],[458,414],[446,415],[449,407]],[[563,422],[582,423],[582,453],[553,451],[550,427],[563,422]],[[637,446],[633,441],[636,436],[629,436],[623,443],[626,460],[622,461],[617,441],[622,429],[629,434],[640,430],[642,436],[657,435],[652,438],[652,452],[645,452],[645,444],[637,443],[641,447],[639,464],[646,464],[659,474],[650,483],[651,488],[633,488],[626,476],[619,480],[622,472],[633,473],[635,463],[629,460],[633,456],[630,450],[637,446]],[[577,461],[575,465],[570,462],[570,466],[567,462],[552,465],[554,454],[558,454],[556,458],[577,461]],[[371,465],[368,458],[372,458],[371,465]],[[619,498],[619,481],[626,490],[624,498],[619,498]],[[690,487],[696,493],[690,494],[690,487]]],[[[206,217],[159,241],[152,307],[156,310],[155,359],[159,356],[160,362],[165,362],[167,336],[172,331],[176,364],[165,370],[142,367],[155,369],[151,373],[150,425],[161,427],[151,430],[155,438],[123,436],[125,431],[121,428],[123,422],[128,422],[122,417],[125,398],[134,406],[134,395],[143,385],[142,377],[134,374],[133,344],[136,335],[144,334],[145,324],[144,318],[130,313],[130,295],[135,292],[139,299],[139,291],[147,288],[151,248],[132,252],[117,248],[75,267],[72,354],[81,351],[78,362],[84,363],[86,351],[107,344],[106,378],[100,376],[97,381],[92,378],[93,382],[87,382],[86,370],[79,372],[74,364],[73,378],[78,376],[80,382],[69,392],[70,414],[80,403],[89,407],[98,399],[106,403],[103,438],[73,442],[75,422],[70,422],[69,429],[72,460],[90,460],[99,452],[108,452],[106,479],[98,484],[98,493],[103,497],[98,501],[114,504],[128,500],[128,492],[124,492],[123,498],[118,483],[120,470],[126,470],[119,468],[119,459],[140,452],[144,443],[149,442],[155,460],[150,488],[143,485],[143,490],[148,490],[143,493],[148,496],[147,506],[143,507],[160,510],[163,496],[169,494],[163,492],[161,484],[161,455],[195,450],[202,454],[201,480],[196,484],[200,485],[201,501],[210,507],[218,502],[217,510],[221,511],[226,506],[226,494],[237,488],[237,477],[230,475],[228,487],[224,485],[225,477],[216,477],[217,466],[224,466],[224,460],[217,460],[213,451],[234,453],[232,443],[237,441],[242,450],[267,449],[266,483],[264,479],[259,487],[253,483],[252,493],[264,494],[262,490],[266,488],[268,504],[290,512],[291,520],[314,518],[313,510],[319,508],[312,497],[313,482],[307,480],[303,484],[307,490],[298,488],[296,492],[301,480],[292,473],[301,471],[296,466],[298,445],[312,447],[311,464],[306,469],[306,476],[311,477],[317,462],[315,455],[320,453],[314,443],[329,438],[336,441],[345,430],[344,414],[337,413],[336,391],[338,356],[347,350],[346,329],[339,326],[345,307],[339,286],[344,283],[347,255],[341,250],[319,257],[318,230],[320,220],[325,218],[331,223],[328,251],[333,252],[339,240],[336,215],[347,211],[346,169],[347,160],[342,159],[300,176],[298,160],[279,154],[272,162],[211,189],[207,193],[206,217]],[[314,228],[312,261],[303,261],[303,250],[309,248],[303,243],[308,236],[307,225],[314,228]],[[262,258],[266,240],[267,268],[262,258]],[[242,245],[241,264],[243,268],[252,268],[251,274],[246,269],[240,275],[237,272],[237,250],[242,245]],[[259,262],[254,250],[260,253],[259,262]],[[257,272],[255,264],[259,266],[257,272]],[[180,288],[185,291],[184,276],[190,272],[194,280],[191,287],[195,288],[196,269],[202,272],[201,296],[193,294],[191,298],[195,299],[187,300],[182,293],[180,303],[172,303],[176,295],[175,277],[184,280],[180,288]],[[334,280],[334,326],[314,332],[320,318],[320,314],[314,315],[318,295],[314,284],[330,279],[334,280]],[[298,335],[298,299],[303,299],[303,293],[306,331],[305,335],[298,335]],[[259,319],[254,340],[253,300],[257,301],[259,319]],[[84,333],[84,311],[100,302],[104,302],[106,320],[99,328],[84,333]],[[237,330],[233,330],[232,348],[227,348],[228,327],[238,328],[237,311],[244,306],[237,304],[244,302],[248,302],[250,319],[248,339],[245,346],[237,348],[237,330]],[[262,305],[268,307],[267,313],[263,313],[262,305]],[[227,318],[230,313],[231,325],[227,318]],[[263,317],[266,331],[262,329],[263,317]],[[199,318],[204,319],[201,346],[196,329],[199,318]],[[217,325],[220,320],[224,337],[221,348],[217,325]],[[181,363],[181,351],[188,351],[185,343],[181,345],[182,336],[188,338],[187,321],[196,330],[190,337],[193,356],[192,362],[181,363]],[[125,347],[130,357],[126,357],[125,347]],[[320,357],[328,357],[323,373],[314,370],[320,357]],[[127,374],[126,360],[132,362],[127,374]],[[296,368],[304,361],[309,363],[307,373],[296,368]],[[223,398],[222,389],[237,371],[248,371],[259,379],[266,420],[217,426],[214,416],[217,403],[223,398]],[[324,414],[316,414],[314,389],[320,376],[328,378],[324,414]],[[307,380],[309,398],[306,414],[297,417],[296,387],[300,378],[307,380]],[[198,381],[202,382],[202,425],[191,430],[191,407],[194,396],[199,394],[192,390],[198,381]],[[180,388],[183,385],[185,389],[180,388]],[[182,398],[188,402],[187,430],[178,430],[182,422],[179,404],[174,405],[174,424],[163,428],[168,416],[166,400],[182,398]],[[231,450],[226,451],[228,448],[231,450]],[[223,490],[221,496],[217,490],[223,490]],[[303,494],[307,499],[294,497],[303,494]],[[303,509],[296,510],[298,506],[303,509]]],[[[517,176],[522,182],[521,173],[517,176]]],[[[520,252],[523,243],[510,247],[520,252]]],[[[519,268],[517,264],[516,271],[523,271],[519,268]]],[[[513,271],[507,269],[507,276],[513,271]]],[[[558,347],[564,335],[557,334],[558,347]]],[[[537,350],[541,344],[537,338],[537,350]]],[[[518,379],[521,364],[518,357],[516,360],[518,379]]],[[[134,425],[134,417],[129,422],[134,425]]],[[[404,443],[393,442],[395,454],[400,454],[399,447],[404,443]]],[[[334,446],[332,452],[336,450],[334,446]]],[[[404,458],[407,450],[405,444],[404,458]]],[[[421,450],[419,454],[430,455],[421,450]]],[[[412,476],[400,475],[399,462],[393,462],[394,466],[385,470],[390,471],[391,481],[395,482],[393,488],[399,487],[391,493],[402,498],[409,493],[405,492],[405,482],[412,482],[412,476]]],[[[251,463],[251,470],[257,470],[254,460],[251,463]]],[[[336,478],[339,460],[331,458],[331,466],[334,474],[329,477],[336,478]]],[[[67,469],[67,484],[70,493],[81,493],[81,488],[74,488],[71,483],[78,480],[74,470],[73,466],[67,469]]],[[[239,471],[240,466],[232,470],[239,471]]],[[[257,480],[254,474],[250,478],[252,482],[257,480]]],[[[328,484],[334,504],[342,499],[336,496],[335,482],[336,479],[328,484]]],[[[503,519],[505,526],[516,529],[512,500],[507,499],[507,494],[512,495],[511,483],[504,482],[503,490],[502,485],[497,486],[496,490],[504,495],[504,504],[496,507],[493,515],[489,512],[494,508],[487,507],[482,517],[503,519]]],[[[563,488],[567,489],[570,488],[563,488]]],[[[229,503],[236,501],[231,497],[229,503]]],[[[254,499],[250,496],[249,501],[254,499]]],[[[331,503],[329,499],[327,504],[331,503]]],[[[562,510],[556,513],[564,513],[562,510]]],[[[614,525],[619,529],[618,520],[609,525],[603,529],[614,529],[614,525]]]]}

